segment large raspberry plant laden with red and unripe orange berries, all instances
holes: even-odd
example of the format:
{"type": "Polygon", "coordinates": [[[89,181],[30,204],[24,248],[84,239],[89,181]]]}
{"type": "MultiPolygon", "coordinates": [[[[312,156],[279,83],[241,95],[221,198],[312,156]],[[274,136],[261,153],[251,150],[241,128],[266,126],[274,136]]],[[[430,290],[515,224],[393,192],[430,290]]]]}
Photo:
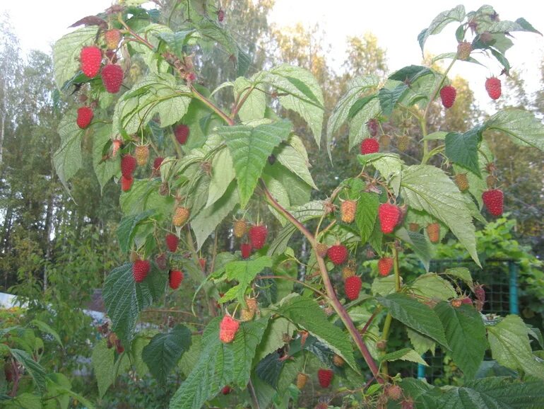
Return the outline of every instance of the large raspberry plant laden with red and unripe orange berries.
{"type": "MultiPolygon", "coordinates": [[[[111,331],[124,348],[107,354],[105,340],[96,346],[100,396],[114,374],[131,365],[138,376],[150,371],[162,383],[180,365],[184,380],[171,408],[201,408],[208,401],[227,406],[234,395],[255,408],[283,407],[298,393],[289,385],[307,388],[309,381],[321,386],[319,407],[334,396],[354,407],[544,405],[542,352],[533,352],[530,341],[541,342],[536,331],[518,316],[481,314],[485,294],[468,270],[428,271],[434,243],[446,235],[480,265],[473,219],[485,223],[485,191],[499,189],[483,135],[499,132],[544,149],[544,126],[524,110],[499,111],[468,132],[428,134],[430,115],[442,109],[439,96],[447,108],[455,103],[448,73],[458,62],[495,59],[504,69],[494,74],[508,74],[510,33],[540,33],[524,18],[499,21],[491,6],[440,13],[418,40],[423,50],[430,35],[458,24],[459,47],[433,60],[448,61],[447,68],[410,65],[384,83],[373,75],[353,79],[324,133],[331,159],[334,137],[349,138],[350,154],[360,146],[360,172],[310,200],[317,186],[305,146],[313,142],[297,136],[273,108],[300,115],[321,146],[324,97],[316,79],[285,64],[245,77],[249,56],[223,29],[228,17],[219,4],[178,6],[177,31],[161,23],[172,19],[160,8],[112,6],[83,18],[78,23],[84,26],[54,47],[59,88],[76,86],[81,100],[95,107],[85,129],[76,121],[78,107],[64,116],[62,146],[54,154],[59,178],[68,187],[81,166],[81,139],[92,139],[100,185],[128,180],[117,230],[127,263],[110,272],[103,289],[111,331]],[[199,74],[199,56],[216,46],[235,64],[237,79],[212,91],[199,74]],[[100,75],[95,49],[85,47],[101,50],[100,75]],[[93,51],[83,57],[82,49],[93,51]],[[229,90],[234,102],[218,103],[216,93],[229,90]],[[382,132],[382,124],[399,115],[420,127],[416,135],[394,136],[398,151],[420,146],[418,164],[406,164],[382,132]],[[145,155],[136,154],[141,146],[145,155]],[[218,248],[225,229],[233,229],[241,251],[218,248]],[[288,246],[295,231],[312,249],[307,259],[288,246]],[[404,282],[400,251],[413,251],[427,272],[404,282]],[[372,253],[380,258],[381,277],[361,277],[356,260],[372,253]],[[306,267],[302,278],[296,263],[306,267]],[[188,280],[181,282],[184,275],[188,280]],[[161,332],[137,325],[142,311],[164,305],[165,293],[178,286],[192,293],[178,307],[205,321],[203,330],[181,321],[161,332]],[[412,347],[388,346],[394,321],[406,327],[412,347]],[[463,371],[463,386],[439,389],[390,373],[388,362],[424,363],[420,355],[436,345],[463,371]],[[487,349],[517,377],[475,379],[487,349]]],[[[492,209],[498,208],[502,213],[502,201],[494,202],[492,209]]]]}

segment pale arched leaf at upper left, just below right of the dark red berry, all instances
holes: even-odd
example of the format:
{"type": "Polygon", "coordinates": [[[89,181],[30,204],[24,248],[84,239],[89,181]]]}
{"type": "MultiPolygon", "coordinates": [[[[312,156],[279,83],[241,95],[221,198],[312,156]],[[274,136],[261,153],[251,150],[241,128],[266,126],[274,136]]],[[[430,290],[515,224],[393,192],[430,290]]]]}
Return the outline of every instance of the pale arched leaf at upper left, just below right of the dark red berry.
{"type": "Polygon", "coordinates": [[[160,126],[175,124],[187,113],[191,102],[189,87],[177,83],[171,74],[149,74],[124,93],[115,106],[113,131],[134,134],[155,115],[160,126]]]}

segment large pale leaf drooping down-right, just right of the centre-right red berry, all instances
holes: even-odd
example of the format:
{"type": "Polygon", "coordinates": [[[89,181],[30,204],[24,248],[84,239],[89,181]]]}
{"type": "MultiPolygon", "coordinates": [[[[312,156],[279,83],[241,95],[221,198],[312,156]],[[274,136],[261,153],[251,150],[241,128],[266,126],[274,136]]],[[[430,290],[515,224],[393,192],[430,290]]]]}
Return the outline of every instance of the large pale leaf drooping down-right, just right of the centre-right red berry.
{"type": "Polygon", "coordinates": [[[444,222],[480,265],[471,213],[463,194],[442,169],[428,165],[404,168],[401,194],[408,207],[424,210],[444,222]]]}

